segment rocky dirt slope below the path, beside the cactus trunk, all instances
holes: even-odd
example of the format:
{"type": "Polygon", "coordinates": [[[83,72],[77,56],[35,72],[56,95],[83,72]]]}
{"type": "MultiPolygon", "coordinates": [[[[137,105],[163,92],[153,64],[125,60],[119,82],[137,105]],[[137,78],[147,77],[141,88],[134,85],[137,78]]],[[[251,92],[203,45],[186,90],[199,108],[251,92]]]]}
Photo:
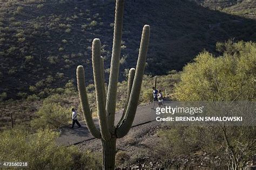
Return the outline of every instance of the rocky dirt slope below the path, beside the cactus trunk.
{"type": "MultiPolygon", "coordinates": [[[[165,123],[153,121],[135,126],[125,137],[117,139],[117,166],[120,168],[161,167],[152,155],[153,148],[160,141],[157,132],[165,128],[167,128],[165,123]]],[[[94,153],[102,152],[100,139],[84,141],[77,146],[81,150],[90,150],[94,153]]]]}

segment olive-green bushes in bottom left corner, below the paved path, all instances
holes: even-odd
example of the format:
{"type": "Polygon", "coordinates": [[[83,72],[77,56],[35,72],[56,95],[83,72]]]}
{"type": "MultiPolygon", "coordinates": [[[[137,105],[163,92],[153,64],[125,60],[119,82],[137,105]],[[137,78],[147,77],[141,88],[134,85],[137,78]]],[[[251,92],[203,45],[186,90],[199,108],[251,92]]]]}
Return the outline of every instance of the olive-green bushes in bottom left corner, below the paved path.
{"type": "Polygon", "coordinates": [[[28,162],[29,169],[100,169],[100,160],[75,146],[58,146],[57,132],[49,129],[31,134],[19,129],[1,132],[0,159],[28,162]]]}

